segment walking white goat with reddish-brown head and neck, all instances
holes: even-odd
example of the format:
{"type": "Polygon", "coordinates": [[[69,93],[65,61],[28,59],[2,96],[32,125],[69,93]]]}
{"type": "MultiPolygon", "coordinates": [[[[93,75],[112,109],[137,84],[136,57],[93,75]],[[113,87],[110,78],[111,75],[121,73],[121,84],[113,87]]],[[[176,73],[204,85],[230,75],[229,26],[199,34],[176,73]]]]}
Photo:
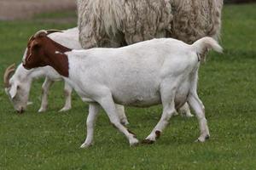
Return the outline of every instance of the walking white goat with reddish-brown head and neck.
{"type": "Polygon", "coordinates": [[[87,137],[82,148],[93,141],[94,123],[100,106],[110,122],[124,133],[131,145],[138,144],[120,122],[115,104],[145,107],[163,105],[160,122],[144,140],[154,143],[168,120],[185,102],[195,110],[204,142],[210,133],[204,105],[196,88],[201,56],[207,48],[221,52],[211,37],[203,37],[192,45],[172,38],[138,42],[124,48],[91,48],[61,51],[45,31],[39,31],[28,44],[29,53],[22,62],[26,69],[50,65],[64,77],[79,96],[90,103],[87,137]],[[65,53],[66,52],[66,53],[65,53]]]}

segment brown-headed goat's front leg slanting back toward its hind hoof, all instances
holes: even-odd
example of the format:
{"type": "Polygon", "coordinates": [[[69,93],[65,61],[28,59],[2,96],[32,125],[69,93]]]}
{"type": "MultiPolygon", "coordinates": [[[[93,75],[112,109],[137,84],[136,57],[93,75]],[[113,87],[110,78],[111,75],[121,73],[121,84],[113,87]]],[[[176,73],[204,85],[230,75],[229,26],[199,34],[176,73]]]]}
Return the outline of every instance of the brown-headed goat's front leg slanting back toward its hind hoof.
{"type": "Polygon", "coordinates": [[[129,131],[120,123],[111,94],[100,99],[98,102],[106,111],[109,120],[113,124],[113,126],[117,127],[121,133],[125,134],[125,137],[129,140],[130,145],[132,146],[138,144],[138,140],[136,139],[135,134],[131,133],[131,131],[129,131]]]}

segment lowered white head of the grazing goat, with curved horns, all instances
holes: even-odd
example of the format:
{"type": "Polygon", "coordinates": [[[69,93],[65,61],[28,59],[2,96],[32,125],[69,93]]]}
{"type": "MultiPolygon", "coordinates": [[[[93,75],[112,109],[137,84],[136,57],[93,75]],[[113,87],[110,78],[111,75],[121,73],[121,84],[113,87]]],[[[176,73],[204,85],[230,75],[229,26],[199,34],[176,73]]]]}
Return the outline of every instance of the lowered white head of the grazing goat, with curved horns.
{"type": "Polygon", "coordinates": [[[21,67],[22,65],[15,71],[15,65],[9,65],[3,76],[5,92],[9,96],[15,110],[19,113],[26,110],[29,90],[31,87],[31,80],[26,78],[24,75],[25,69],[22,69],[21,67]],[[14,72],[15,74],[11,76],[14,72]]]}

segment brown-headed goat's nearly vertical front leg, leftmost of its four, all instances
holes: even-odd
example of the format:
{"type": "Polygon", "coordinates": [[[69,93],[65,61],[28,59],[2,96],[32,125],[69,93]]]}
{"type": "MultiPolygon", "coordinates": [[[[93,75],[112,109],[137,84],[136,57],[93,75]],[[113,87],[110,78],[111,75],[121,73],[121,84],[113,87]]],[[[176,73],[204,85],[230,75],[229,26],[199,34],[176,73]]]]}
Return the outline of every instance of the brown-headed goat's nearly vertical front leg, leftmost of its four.
{"type": "Polygon", "coordinates": [[[86,126],[87,126],[87,136],[82,144],[81,148],[87,148],[91,144],[93,144],[93,133],[94,133],[94,125],[96,122],[96,116],[100,111],[100,105],[96,103],[91,103],[89,105],[89,115],[87,116],[86,126]]]}

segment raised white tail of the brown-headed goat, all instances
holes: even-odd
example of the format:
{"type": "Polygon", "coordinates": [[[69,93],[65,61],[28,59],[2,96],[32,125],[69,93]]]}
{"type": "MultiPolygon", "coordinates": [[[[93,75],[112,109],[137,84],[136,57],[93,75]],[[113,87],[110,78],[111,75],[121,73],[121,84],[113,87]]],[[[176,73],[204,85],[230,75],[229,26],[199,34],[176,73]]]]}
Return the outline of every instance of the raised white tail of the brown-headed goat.
{"type": "Polygon", "coordinates": [[[204,55],[208,50],[213,49],[218,53],[222,53],[222,47],[212,37],[202,37],[201,39],[194,42],[192,48],[195,49],[196,54],[199,54],[200,58],[204,58],[204,55]]]}

